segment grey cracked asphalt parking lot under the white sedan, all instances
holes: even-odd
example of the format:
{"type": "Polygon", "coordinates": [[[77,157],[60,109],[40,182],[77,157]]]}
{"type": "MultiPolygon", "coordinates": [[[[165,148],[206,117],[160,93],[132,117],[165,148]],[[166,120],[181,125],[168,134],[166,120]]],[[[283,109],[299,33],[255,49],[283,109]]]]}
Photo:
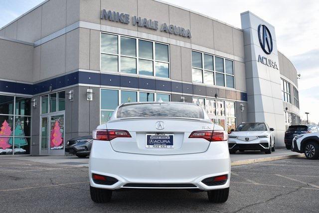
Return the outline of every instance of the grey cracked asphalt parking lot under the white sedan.
{"type": "MultiPolygon", "coordinates": [[[[318,212],[319,160],[277,160],[232,167],[230,197],[208,203],[185,190],[115,192],[109,204],[90,199],[88,168],[1,158],[1,212],[318,212]]],[[[147,172],[147,171],[146,171],[147,172]]]]}

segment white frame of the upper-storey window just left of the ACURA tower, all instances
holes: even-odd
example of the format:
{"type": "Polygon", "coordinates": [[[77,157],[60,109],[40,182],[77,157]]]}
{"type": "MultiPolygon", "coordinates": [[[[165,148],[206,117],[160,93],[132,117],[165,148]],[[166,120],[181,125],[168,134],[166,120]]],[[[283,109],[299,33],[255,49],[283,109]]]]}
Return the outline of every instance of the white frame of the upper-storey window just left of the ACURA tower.
{"type": "MultiPolygon", "coordinates": [[[[202,73],[202,82],[199,83],[199,82],[193,82],[193,81],[192,81],[193,84],[204,84],[204,85],[207,85],[207,86],[216,86],[216,87],[222,87],[222,88],[235,89],[235,66],[234,66],[234,60],[229,59],[229,58],[224,58],[224,57],[221,57],[221,56],[217,56],[217,55],[213,55],[213,54],[206,53],[206,52],[200,52],[200,51],[193,50],[193,49],[191,49],[191,52],[197,52],[197,53],[200,53],[200,54],[201,54],[201,64],[202,64],[202,68],[193,67],[192,54],[190,54],[190,55],[191,55],[191,70],[193,70],[193,69],[201,70],[201,73],[202,73]],[[205,69],[205,61],[204,61],[204,55],[205,55],[205,54],[213,57],[213,70],[205,69]],[[216,71],[216,60],[215,60],[216,57],[223,59],[223,69],[224,69],[224,72],[223,72],[223,73],[216,71]],[[226,73],[226,60],[232,62],[233,75],[226,73]],[[206,84],[206,83],[205,83],[205,80],[204,80],[204,72],[205,72],[205,71],[206,71],[206,72],[212,72],[212,73],[213,73],[213,76],[214,76],[214,84],[213,84],[213,85],[211,85],[211,84],[206,84]],[[224,75],[224,86],[218,86],[218,85],[216,85],[216,73],[219,73],[219,74],[224,75]],[[234,87],[227,87],[227,84],[226,84],[226,75],[233,77],[234,87]]],[[[193,79],[193,78],[192,78],[192,79],[193,79]]]]}

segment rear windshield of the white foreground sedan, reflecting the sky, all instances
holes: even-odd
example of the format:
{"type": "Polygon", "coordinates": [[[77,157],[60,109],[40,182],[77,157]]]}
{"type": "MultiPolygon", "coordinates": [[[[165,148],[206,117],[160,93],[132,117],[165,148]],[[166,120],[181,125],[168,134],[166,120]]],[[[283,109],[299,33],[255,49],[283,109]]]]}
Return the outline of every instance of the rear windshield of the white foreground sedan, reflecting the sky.
{"type": "Polygon", "coordinates": [[[117,117],[187,117],[204,118],[203,110],[197,105],[177,103],[147,103],[120,106],[117,117]]]}

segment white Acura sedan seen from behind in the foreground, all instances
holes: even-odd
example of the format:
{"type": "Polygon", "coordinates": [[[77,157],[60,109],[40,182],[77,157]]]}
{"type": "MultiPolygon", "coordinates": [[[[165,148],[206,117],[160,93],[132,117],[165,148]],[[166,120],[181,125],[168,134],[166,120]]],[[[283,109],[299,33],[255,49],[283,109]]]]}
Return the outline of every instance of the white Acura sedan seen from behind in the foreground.
{"type": "Polygon", "coordinates": [[[93,139],[94,202],[108,202],[113,190],[127,188],[207,191],[210,202],[228,199],[227,133],[196,104],[122,104],[93,139]]]}

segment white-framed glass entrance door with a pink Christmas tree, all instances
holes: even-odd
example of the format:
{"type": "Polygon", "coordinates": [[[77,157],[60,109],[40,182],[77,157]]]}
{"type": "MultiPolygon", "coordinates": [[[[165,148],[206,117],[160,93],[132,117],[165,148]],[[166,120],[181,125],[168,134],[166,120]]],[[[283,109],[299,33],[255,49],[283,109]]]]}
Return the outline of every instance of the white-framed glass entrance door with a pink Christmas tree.
{"type": "Polygon", "coordinates": [[[64,155],[64,112],[41,115],[40,155],[64,155]]]}

